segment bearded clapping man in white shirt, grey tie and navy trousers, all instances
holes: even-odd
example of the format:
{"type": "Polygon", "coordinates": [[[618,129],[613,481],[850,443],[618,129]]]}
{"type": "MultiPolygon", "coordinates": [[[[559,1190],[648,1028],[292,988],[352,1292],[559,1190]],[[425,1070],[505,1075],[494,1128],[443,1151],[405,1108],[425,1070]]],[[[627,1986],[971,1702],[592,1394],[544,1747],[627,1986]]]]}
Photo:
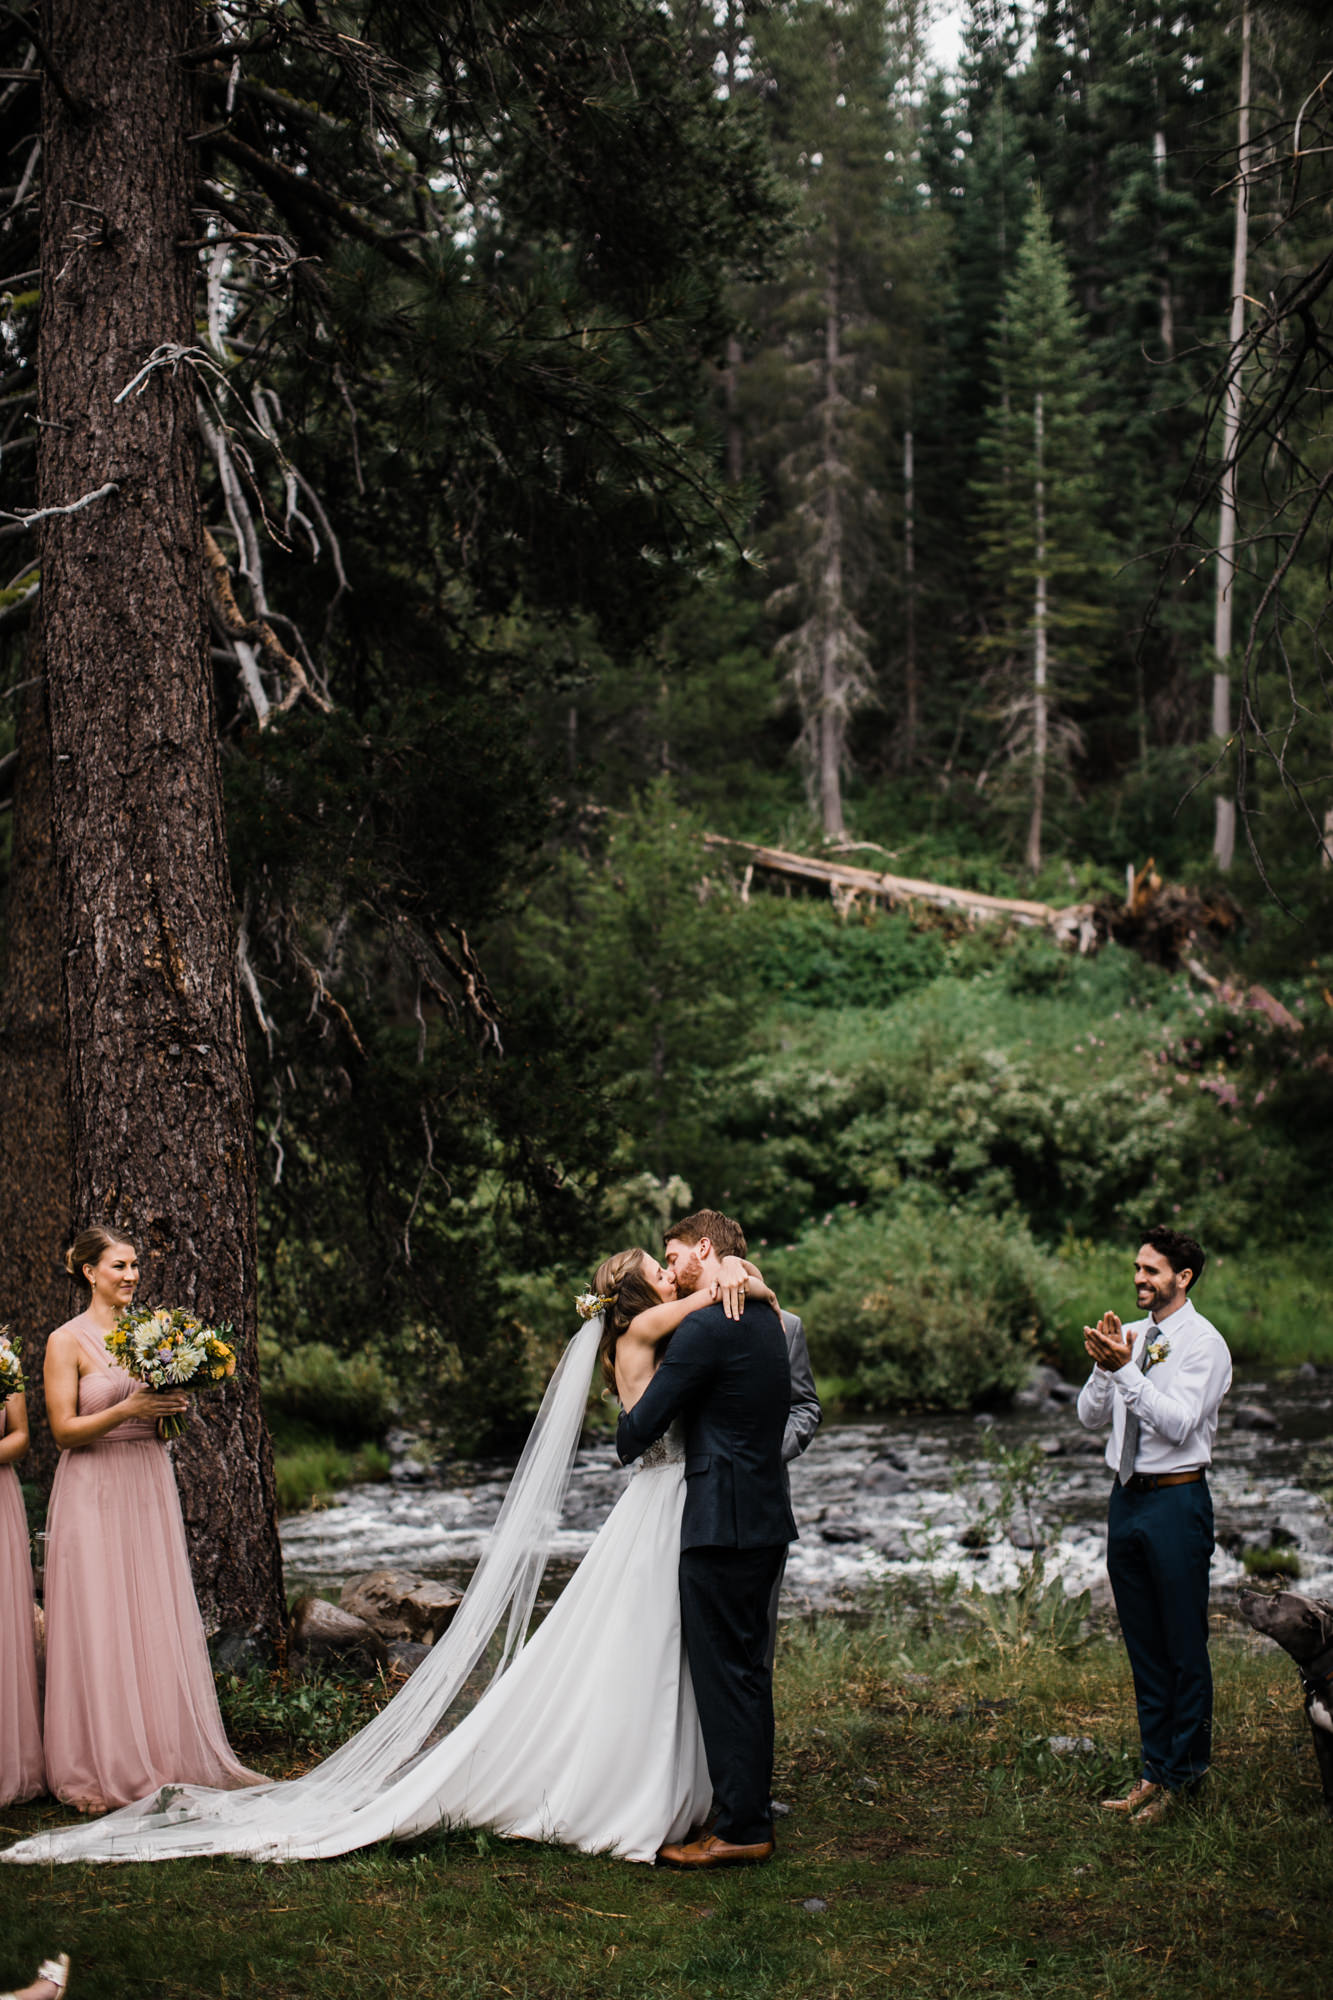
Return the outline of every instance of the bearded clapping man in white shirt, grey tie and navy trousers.
{"type": "Polygon", "coordinates": [[[1231,1354],[1189,1298],[1205,1256],[1193,1236],[1147,1230],[1135,1258],[1145,1318],[1113,1312],[1083,1328],[1093,1374],[1079,1394],[1087,1430],[1111,1424],[1115,1472],[1107,1572],[1135,1676],[1143,1770],[1125,1798],[1105,1798],[1137,1826],[1165,1818],[1199,1788],[1213,1744],[1209,1562],[1213,1500],[1207,1468],[1217,1410],[1231,1388],[1231,1354]]]}

